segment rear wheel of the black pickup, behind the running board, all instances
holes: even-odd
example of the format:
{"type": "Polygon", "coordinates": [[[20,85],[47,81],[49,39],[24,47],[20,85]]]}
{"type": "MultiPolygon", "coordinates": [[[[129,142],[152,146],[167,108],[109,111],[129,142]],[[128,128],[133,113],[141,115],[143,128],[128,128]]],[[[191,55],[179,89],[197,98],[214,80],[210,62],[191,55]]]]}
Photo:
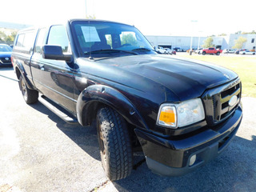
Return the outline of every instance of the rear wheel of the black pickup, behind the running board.
{"type": "Polygon", "coordinates": [[[22,75],[19,77],[18,85],[20,90],[22,91],[22,96],[27,104],[38,102],[38,91],[30,90],[26,86],[26,82],[24,81],[22,75]]]}

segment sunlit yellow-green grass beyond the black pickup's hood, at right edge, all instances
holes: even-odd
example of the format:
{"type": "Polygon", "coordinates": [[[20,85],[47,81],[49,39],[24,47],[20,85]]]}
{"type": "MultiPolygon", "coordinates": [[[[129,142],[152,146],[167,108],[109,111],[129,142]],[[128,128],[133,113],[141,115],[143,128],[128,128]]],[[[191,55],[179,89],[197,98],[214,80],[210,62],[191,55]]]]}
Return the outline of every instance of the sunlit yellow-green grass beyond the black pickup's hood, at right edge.
{"type": "Polygon", "coordinates": [[[245,55],[216,56],[216,55],[180,55],[205,62],[211,62],[218,66],[224,66],[236,72],[242,81],[242,97],[256,98],[256,57],[245,55]]]}

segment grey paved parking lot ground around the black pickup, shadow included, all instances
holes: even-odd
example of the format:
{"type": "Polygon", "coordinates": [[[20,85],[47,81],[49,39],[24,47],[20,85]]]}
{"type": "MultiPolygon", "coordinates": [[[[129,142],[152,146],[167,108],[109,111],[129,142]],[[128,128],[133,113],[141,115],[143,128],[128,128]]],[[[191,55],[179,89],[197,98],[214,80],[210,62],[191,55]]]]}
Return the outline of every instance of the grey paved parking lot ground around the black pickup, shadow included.
{"type": "MultiPolygon", "coordinates": [[[[239,55],[240,56],[240,55],[239,55]]],[[[248,55],[249,56],[249,55],[248,55]]],[[[249,56],[251,57],[251,56],[249,56]]],[[[26,105],[11,67],[0,68],[0,191],[256,191],[256,98],[242,98],[242,125],[212,162],[182,177],[148,170],[142,154],[129,178],[110,182],[93,127],[26,105]]]]}

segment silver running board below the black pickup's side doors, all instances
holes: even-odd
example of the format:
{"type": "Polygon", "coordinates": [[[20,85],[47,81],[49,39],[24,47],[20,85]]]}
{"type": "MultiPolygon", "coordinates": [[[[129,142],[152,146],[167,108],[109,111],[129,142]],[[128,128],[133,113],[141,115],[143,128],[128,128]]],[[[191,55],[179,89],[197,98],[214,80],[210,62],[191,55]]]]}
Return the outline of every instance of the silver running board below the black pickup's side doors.
{"type": "Polygon", "coordinates": [[[79,124],[76,118],[70,117],[70,115],[65,114],[61,110],[59,110],[56,106],[48,102],[42,94],[39,94],[38,101],[42,103],[42,105],[46,106],[49,110],[51,110],[54,114],[58,115],[59,118],[62,118],[67,123],[70,124],[79,124]]]}

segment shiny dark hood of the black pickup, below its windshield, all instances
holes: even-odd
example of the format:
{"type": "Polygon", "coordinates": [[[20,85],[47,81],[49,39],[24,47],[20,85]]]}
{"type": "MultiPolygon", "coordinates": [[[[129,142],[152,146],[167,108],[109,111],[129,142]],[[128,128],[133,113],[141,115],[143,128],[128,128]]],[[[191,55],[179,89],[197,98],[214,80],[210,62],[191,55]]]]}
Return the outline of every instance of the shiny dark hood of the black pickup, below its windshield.
{"type": "MultiPolygon", "coordinates": [[[[166,87],[166,100],[171,100],[175,94],[180,101],[200,97],[206,89],[230,82],[238,75],[231,70],[209,63],[203,63],[184,58],[170,58],[162,55],[134,55],[120,58],[108,58],[96,61],[98,64],[113,66],[114,73],[119,76],[116,80],[119,83],[141,85],[164,86],[166,87]],[[118,70],[117,70],[118,69],[118,70]],[[121,74],[126,74],[120,78],[121,74]],[[140,81],[138,81],[138,79],[140,81]],[[168,91],[170,90],[170,91],[168,91]],[[168,97],[168,93],[170,93],[168,97]],[[169,98],[169,99],[168,99],[169,98]]],[[[114,76],[111,77],[112,79],[114,76]]],[[[138,89],[136,87],[136,89],[138,89]]]]}

